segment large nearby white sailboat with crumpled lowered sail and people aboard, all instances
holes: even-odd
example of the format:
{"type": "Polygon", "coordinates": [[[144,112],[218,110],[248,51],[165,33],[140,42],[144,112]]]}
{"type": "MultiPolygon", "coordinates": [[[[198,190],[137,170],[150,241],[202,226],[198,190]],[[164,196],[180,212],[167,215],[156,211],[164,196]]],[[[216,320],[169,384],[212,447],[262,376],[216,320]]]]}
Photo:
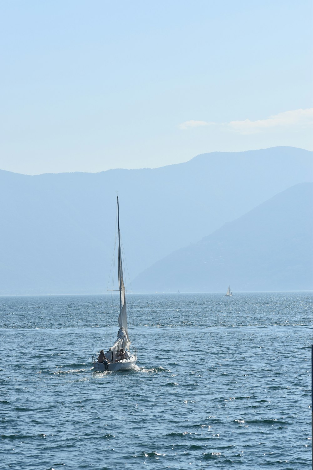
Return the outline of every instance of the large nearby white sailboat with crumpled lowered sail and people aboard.
{"type": "MultiPolygon", "coordinates": [[[[120,291],[120,314],[118,324],[120,329],[113,346],[102,355],[92,356],[93,368],[99,371],[119,371],[134,370],[137,362],[137,352],[130,352],[130,337],[128,335],[126,296],[123,281],[122,257],[121,257],[121,236],[120,236],[120,213],[117,196],[117,220],[118,220],[118,285],[120,291]],[[100,357],[101,356],[101,357],[100,357]],[[102,360],[101,360],[102,359],[102,360]]],[[[103,350],[101,350],[103,352],[103,350]]],[[[101,353],[100,352],[100,353],[101,353]]]]}

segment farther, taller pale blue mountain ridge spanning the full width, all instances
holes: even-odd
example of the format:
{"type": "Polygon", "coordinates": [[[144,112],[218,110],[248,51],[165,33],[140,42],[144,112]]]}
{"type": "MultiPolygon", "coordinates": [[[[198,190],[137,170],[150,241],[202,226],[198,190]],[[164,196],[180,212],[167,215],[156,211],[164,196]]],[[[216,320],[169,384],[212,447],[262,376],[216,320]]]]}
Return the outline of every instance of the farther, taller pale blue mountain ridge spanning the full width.
{"type": "Polygon", "coordinates": [[[105,292],[116,190],[134,278],[305,181],[312,181],[312,152],[290,147],[214,152],[156,169],[37,176],[0,171],[0,294],[105,292]]]}

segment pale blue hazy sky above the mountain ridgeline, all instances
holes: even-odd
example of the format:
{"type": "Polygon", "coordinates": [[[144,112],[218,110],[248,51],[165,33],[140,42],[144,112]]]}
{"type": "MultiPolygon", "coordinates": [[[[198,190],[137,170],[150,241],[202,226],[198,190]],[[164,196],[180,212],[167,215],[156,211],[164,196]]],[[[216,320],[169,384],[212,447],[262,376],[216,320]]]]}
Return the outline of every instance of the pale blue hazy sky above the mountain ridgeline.
{"type": "Polygon", "coordinates": [[[313,149],[313,6],[0,2],[0,169],[159,167],[313,149]]]}

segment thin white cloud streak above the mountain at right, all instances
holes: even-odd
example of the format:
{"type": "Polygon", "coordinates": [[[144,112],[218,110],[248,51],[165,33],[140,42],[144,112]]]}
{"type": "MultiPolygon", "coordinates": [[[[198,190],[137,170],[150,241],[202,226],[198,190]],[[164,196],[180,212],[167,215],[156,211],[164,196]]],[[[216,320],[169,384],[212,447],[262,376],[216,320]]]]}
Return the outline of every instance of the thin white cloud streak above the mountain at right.
{"type": "Polygon", "coordinates": [[[282,113],[270,116],[267,119],[259,119],[257,121],[251,121],[245,119],[244,121],[230,121],[229,123],[214,123],[207,121],[186,121],[179,125],[182,130],[191,129],[193,127],[208,126],[208,125],[220,125],[228,127],[233,131],[248,135],[256,134],[273,127],[298,127],[303,128],[313,125],[313,108],[305,110],[292,110],[284,111],[282,113]]]}

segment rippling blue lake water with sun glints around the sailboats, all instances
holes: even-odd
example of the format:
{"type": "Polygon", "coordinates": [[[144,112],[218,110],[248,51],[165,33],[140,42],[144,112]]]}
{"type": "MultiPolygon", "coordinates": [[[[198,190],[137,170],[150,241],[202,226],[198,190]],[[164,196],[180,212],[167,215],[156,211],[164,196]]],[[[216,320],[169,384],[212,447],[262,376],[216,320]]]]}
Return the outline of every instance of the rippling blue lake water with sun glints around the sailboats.
{"type": "Polygon", "coordinates": [[[312,293],[0,298],[0,468],[311,468],[312,293]]]}

